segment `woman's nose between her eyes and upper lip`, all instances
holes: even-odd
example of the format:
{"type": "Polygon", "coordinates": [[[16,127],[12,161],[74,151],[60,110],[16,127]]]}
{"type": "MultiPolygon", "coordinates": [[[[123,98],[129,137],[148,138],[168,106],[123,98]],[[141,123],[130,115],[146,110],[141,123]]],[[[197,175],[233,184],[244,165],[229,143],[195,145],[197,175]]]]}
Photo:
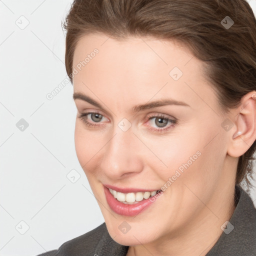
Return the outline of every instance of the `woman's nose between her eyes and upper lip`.
{"type": "Polygon", "coordinates": [[[104,146],[100,170],[109,180],[138,174],[143,169],[140,150],[142,146],[142,142],[132,132],[131,127],[126,131],[117,127],[104,146]]]}

